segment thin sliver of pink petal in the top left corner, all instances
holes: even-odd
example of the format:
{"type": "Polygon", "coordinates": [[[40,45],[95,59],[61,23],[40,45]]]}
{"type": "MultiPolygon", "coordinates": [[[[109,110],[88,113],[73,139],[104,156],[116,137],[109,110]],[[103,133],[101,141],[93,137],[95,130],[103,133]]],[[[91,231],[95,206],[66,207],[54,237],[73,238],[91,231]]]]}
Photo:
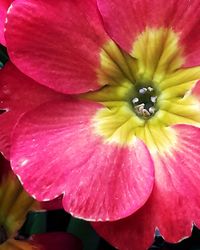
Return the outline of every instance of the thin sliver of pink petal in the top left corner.
{"type": "Polygon", "coordinates": [[[13,0],[1,0],[0,2],[0,43],[4,46],[6,41],[4,38],[4,26],[6,21],[6,13],[13,0]]]}

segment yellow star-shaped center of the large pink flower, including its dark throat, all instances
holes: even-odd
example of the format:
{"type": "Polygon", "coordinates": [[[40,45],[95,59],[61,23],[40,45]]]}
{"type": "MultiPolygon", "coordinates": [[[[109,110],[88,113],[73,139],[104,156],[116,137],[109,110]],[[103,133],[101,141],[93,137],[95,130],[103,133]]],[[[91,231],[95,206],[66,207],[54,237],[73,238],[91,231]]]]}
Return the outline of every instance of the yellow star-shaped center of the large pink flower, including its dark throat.
{"type": "Polygon", "coordinates": [[[94,133],[121,146],[139,137],[152,153],[169,153],[176,143],[170,126],[200,121],[199,102],[190,95],[200,67],[182,68],[183,53],[179,34],[166,28],[147,28],[130,55],[113,41],[105,44],[97,74],[107,84],[82,95],[104,106],[93,117],[94,133]]]}

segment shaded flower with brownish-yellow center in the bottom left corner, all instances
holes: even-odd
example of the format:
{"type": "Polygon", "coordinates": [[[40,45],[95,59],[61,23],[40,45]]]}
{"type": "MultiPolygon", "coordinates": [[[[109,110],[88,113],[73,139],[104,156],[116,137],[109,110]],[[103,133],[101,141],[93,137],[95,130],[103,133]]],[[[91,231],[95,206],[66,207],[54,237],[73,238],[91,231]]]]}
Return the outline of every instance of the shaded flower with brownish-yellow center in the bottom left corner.
{"type": "Polygon", "coordinates": [[[1,250],[80,250],[81,242],[68,233],[33,235],[19,240],[18,230],[30,210],[40,208],[22,188],[10,169],[9,162],[0,155],[0,249],[1,250]]]}

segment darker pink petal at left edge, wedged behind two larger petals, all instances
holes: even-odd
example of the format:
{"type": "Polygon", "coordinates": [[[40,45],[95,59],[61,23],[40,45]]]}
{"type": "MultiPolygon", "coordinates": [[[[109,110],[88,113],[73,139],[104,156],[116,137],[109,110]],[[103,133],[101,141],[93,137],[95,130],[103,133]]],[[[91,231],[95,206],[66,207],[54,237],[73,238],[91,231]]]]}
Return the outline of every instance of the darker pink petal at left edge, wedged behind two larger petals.
{"type": "Polygon", "coordinates": [[[19,117],[41,103],[64,96],[37,84],[8,62],[0,71],[0,151],[9,158],[10,136],[19,117]]]}

